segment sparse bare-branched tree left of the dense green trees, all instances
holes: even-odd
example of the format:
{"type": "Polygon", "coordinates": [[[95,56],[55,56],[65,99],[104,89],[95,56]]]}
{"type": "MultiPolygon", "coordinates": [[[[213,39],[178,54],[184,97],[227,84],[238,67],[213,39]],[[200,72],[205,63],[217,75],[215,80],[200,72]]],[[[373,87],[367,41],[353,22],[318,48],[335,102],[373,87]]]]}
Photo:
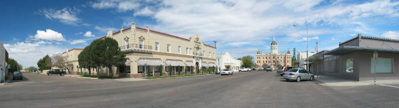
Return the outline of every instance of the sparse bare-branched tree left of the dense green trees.
{"type": "Polygon", "coordinates": [[[69,71],[71,64],[69,64],[67,60],[68,58],[66,56],[62,56],[61,53],[53,54],[51,56],[51,65],[53,67],[66,68],[66,70],[68,70],[68,73],[71,74],[71,72],[69,71]]]}

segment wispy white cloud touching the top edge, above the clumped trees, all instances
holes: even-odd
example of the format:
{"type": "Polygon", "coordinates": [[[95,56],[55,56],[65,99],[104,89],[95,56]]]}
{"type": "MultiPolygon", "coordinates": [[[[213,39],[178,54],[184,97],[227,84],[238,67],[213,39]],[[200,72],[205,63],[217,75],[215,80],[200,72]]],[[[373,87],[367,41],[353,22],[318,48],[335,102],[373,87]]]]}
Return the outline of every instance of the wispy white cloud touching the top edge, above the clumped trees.
{"type": "Polygon", "coordinates": [[[118,11],[125,12],[139,8],[140,3],[138,0],[99,0],[92,3],[92,7],[97,9],[117,8],[118,11]]]}

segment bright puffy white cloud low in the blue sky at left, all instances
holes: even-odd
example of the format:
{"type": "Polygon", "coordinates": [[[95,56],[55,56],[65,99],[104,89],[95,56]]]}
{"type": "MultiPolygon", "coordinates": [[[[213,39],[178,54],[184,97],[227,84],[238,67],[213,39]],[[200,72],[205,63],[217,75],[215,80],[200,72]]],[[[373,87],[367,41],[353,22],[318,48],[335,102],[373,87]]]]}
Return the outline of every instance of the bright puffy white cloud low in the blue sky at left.
{"type": "Polygon", "coordinates": [[[30,36],[30,38],[33,38],[33,40],[66,41],[61,33],[51,29],[46,29],[46,31],[37,30],[36,35],[30,36]]]}

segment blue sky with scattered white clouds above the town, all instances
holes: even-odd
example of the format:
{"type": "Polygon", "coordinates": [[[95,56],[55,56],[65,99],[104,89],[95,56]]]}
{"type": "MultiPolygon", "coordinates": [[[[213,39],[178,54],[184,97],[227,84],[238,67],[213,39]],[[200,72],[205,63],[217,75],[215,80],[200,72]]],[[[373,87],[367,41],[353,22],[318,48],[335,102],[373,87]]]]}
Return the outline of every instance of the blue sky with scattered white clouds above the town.
{"type": "Polygon", "coordinates": [[[217,53],[235,57],[338,48],[357,34],[399,39],[398,0],[2,0],[0,41],[23,67],[46,54],[84,48],[130,27],[217,41],[217,53]],[[292,25],[299,26],[294,27],[292,25]]]}

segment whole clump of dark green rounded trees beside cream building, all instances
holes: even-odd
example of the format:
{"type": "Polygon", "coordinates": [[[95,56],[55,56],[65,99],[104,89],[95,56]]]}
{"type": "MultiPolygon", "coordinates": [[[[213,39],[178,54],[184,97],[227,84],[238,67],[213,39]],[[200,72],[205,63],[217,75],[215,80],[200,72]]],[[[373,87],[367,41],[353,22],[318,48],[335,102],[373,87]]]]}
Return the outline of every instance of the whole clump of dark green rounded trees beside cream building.
{"type": "Polygon", "coordinates": [[[107,67],[111,77],[113,66],[125,65],[126,55],[121,52],[118,42],[112,38],[94,40],[89,46],[78,55],[79,66],[89,69],[95,68],[98,72],[99,67],[107,67]]]}

